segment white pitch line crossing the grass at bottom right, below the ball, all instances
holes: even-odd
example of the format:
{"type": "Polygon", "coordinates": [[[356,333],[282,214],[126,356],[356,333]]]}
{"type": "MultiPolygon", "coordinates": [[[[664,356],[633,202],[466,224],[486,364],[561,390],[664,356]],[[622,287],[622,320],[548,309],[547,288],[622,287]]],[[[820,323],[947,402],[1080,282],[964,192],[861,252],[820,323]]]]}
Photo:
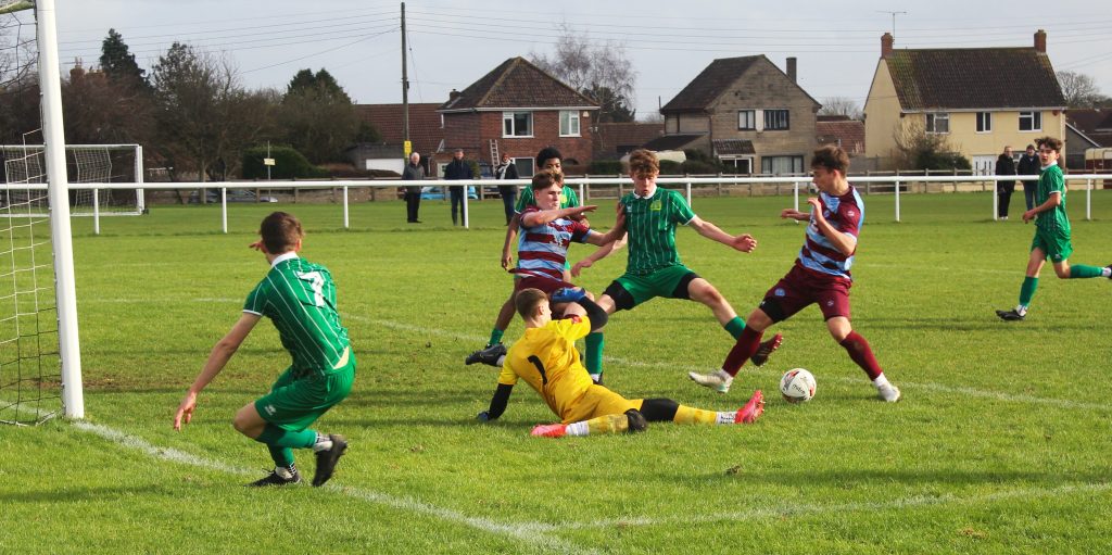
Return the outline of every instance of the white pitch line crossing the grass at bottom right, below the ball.
{"type": "Polygon", "coordinates": [[[1102,493],[1112,489],[1112,484],[1078,484],[1060,487],[1036,487],[1026,489],[1005,489],[985,495],[959,497],[955,495],[914,495],[901,499],[882,503],[843,503],[838,505],[815,505],[815,504],[792,504],[780,505],[765,508],[755,508],[739,512],[713,512],[702,516],[666,516],[662,518],[649,518],[634,516],[629,518],[600,519],[589,523],[569,523],[568,528],[612,528],[619,526],[655,526],[665,524],[694,525],[715,522],[746,522],[766,518],[780,518],[795,515],[822,515],[840,514],[847,512],[855,513],[878,513],[883,511],[901,511],[906,508],[926,507],[933,505],[984,505],[996,501],[1033,498],[1033,497],[1061,497],[1075,493],[1102,493]]]}

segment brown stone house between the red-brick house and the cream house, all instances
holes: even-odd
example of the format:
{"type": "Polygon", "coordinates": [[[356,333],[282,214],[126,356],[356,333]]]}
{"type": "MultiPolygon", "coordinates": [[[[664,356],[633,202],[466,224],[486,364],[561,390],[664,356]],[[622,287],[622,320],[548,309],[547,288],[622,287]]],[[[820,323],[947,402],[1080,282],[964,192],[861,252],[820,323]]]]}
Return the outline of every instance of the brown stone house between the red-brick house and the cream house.
{"type": "Polygon", "coordinates": [[[821,105],[764,54],[714,60],[661,113],[653,150],[697,149],[736,174],[802,174],[815,149],[821,105]]]}

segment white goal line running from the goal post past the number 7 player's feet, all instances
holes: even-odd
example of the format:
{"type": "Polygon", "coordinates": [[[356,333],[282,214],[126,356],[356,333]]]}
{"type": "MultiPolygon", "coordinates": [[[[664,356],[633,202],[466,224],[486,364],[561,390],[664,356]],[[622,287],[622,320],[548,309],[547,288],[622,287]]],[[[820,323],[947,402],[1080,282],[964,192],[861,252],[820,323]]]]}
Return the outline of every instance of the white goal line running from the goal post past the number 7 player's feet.
{"type": "MultiPolygon", "coordinates": [[[[147,455],[172,463],[197,466],[201,468],[208,468],[211,470],[219,470],[227,474],[235,475],[250,475],[255,474],[246,468],[239,468],[225,463],[212,460],[203,457],[198,457],[189,453],[175,449],[172,447],[158,447],[151,443],[142,439],[138,436],[132,436],[120,432],[118,429],[110,428],[100,424],[91,424],[83,420],[77,420],[73,423],[73,427],[86,433],[90,433],[116,443],[120,446],[137,449],[147,455]]],[[[424,503],[410,497],[394,497],[379,492],[374,492],[369,489],[360,489],[350,486],[340,486],[328,484],[325,486],[334,492],[347,495],[349,497],[366,501],[369,503],[375,503],[378,505],[386,505],[399,511],[405,511],[409,513],[419,513],[428,516],[434,516],[443,521],[448,521],[456,524],[463,524],[476,528],[481,532],[489,534],[495,534],[499,536],[507,536],[514,539],[518,539],[528,544],[533,544],[537,547],[542,547],[548,551],[559,552],[559,553],[576,553],[576,554],[593,554],[597,553],[595,549],[584,549],[574,544],[565,542],[558,537],[549,535],[549,533],[555,532],[565,526],[554,526],[550,524],[543,523],[499,523],[486,517],[475,517],[467,516],[457,511],[437,507],[428,503],[424,503]]]]}

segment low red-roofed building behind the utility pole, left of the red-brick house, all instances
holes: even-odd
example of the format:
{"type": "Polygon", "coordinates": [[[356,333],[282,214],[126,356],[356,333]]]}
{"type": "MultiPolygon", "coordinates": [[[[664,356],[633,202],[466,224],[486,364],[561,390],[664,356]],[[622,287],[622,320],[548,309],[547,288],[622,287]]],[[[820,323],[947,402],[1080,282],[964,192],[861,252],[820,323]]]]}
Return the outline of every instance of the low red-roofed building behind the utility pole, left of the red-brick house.
{"type": "MultiPolygon", "coordinates": [[[[421,161],[431,159],[440,147],[443,130],[440,115],[436,112],[439,103],[409,105],[409,142],[413,151],[421,155],[421,161]]],[[[348,150],[348,158],[359,169],[394,169],[400,174],[405,166],[406,155],[403,151],[403,105],[356,105],[356,116],[360,121],[375,126],[383,136],[383,145],[357,145],[348,150]]]]}

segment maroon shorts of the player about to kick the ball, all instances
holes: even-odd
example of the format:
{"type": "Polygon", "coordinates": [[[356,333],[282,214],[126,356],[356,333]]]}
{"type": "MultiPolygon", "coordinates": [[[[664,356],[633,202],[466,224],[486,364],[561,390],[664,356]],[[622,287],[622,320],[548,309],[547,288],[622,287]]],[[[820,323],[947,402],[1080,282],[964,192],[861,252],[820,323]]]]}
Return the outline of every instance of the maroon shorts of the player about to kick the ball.
{"type": "Polygon", "coordinates": [[[772,321],[783,321],[812,303],[818,304],[823,319],[850,317],[850,287],[853,281],[804,268],[798,262],[765,294],[761,310],[772,321]]]}

